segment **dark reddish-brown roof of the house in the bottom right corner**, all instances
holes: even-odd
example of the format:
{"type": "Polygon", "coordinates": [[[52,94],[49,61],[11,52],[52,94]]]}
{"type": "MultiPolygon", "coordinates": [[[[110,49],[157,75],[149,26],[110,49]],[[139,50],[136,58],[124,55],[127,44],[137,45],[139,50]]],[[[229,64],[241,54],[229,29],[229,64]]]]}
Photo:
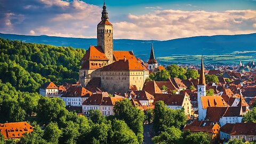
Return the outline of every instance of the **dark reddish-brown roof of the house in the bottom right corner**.
{"type": "Polygon", "coordinates": [[[256,135],[256,123],[225,124],[222,127],[220,130],[230,135],[256,135]]]}

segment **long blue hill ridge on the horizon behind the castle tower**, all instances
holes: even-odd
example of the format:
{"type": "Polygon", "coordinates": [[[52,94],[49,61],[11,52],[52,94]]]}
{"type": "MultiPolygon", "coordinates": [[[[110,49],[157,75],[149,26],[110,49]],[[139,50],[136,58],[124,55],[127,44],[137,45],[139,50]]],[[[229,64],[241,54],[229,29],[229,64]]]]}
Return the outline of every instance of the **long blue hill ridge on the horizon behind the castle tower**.
{"type": "MultiPolygon", "coordinates": [[[[97,45],[96,38],[69,38],[55,36],[25,36],[1,34],[6,39],[19,39],[27,43],[42,43],[55,46],[72,46],[87,49],[90,45],[97,45]]],[[[245,35],[216,35],[178,38],[168,41],[154,41],[156,57],[172,55],[204,55],[230,54],[236,51],[256,51],[256,33],[245,35]]],[[[143,60],[147,60],[150,53],[151,41],[134,39],[114,39],[114,50],[129,50],[143,60]]]]}

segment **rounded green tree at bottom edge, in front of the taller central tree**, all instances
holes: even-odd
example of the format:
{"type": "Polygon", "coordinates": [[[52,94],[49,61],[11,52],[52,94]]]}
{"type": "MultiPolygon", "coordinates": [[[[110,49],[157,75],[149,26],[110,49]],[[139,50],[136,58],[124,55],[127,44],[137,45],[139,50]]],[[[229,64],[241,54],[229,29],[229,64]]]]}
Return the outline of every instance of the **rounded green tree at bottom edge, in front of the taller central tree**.
{"type": "Polygon", "coordinates": [[[122,120],[114,119],[112,122],[113,136],[109,143],[139,143],[135,133],[122,120]]]}

